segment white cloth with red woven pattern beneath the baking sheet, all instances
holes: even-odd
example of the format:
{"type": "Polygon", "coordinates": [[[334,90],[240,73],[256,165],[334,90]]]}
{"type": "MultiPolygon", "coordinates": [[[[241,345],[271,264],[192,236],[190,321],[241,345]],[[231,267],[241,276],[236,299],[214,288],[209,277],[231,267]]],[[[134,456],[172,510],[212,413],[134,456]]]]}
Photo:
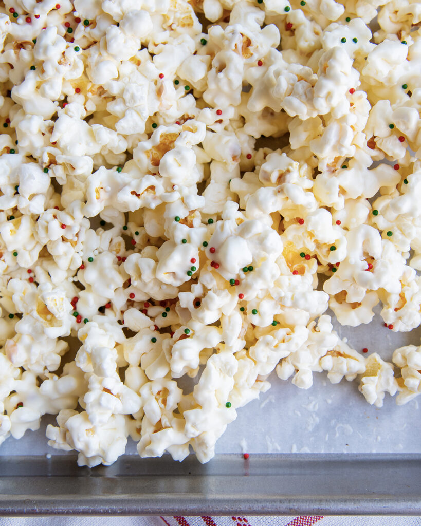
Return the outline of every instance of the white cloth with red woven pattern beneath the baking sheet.
{"type": "Polygon", "coordinates": [[[0,526],[421,526],[421,517],[0,517],[0,526]]]}

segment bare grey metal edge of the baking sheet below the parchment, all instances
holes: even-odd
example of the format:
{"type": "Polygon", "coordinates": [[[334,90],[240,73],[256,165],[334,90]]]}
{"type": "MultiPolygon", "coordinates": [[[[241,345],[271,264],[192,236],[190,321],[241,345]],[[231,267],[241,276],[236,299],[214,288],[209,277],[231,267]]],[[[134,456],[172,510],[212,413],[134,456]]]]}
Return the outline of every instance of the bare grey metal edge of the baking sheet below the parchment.
{"type": "Polygon", "coordinates": [[[16,456],[0,472],[0,515],[421,513],[419,454],[123,456],[91,470],[74,456],[16,456]]]}

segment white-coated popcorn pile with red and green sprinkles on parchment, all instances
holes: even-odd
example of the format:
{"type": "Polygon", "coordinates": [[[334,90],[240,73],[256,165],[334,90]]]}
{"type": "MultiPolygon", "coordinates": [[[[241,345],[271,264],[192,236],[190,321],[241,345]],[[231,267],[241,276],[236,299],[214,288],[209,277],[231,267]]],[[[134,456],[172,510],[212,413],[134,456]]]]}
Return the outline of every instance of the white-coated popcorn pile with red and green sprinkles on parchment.
{"type": "Polygon", "coordinates": [[[0,443],[207,462],[273,370],[419,395],[325,312],[421,321],[421,4],[55,2],[0,7],[0,443]]]}

